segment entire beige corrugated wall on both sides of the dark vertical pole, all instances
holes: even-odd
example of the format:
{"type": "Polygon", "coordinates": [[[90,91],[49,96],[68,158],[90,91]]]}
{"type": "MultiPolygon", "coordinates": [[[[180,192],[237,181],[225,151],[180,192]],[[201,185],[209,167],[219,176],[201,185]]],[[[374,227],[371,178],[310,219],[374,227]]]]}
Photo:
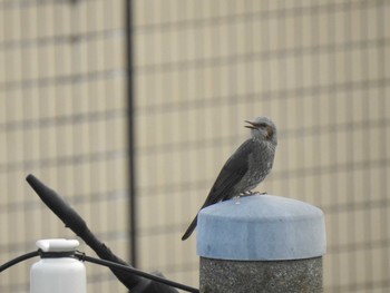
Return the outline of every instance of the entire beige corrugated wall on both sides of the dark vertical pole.
{"type": "MultiPolygon", "coordinates": [[[[181,236],[244,120],[273,118],[259,187],[326,214],[325,292],[390,289],[390,2],[134,0],[139,268],[198,285],[181,236]]],[[[0,1],[0,262],[71,236],[23,183],[37,174],[124,258],[124,1],[0,1]]],[[[29,263],[0,276],[27,292],[29,263]]],[[[126,292],[105,268],[92,292],[126,292]]]]}

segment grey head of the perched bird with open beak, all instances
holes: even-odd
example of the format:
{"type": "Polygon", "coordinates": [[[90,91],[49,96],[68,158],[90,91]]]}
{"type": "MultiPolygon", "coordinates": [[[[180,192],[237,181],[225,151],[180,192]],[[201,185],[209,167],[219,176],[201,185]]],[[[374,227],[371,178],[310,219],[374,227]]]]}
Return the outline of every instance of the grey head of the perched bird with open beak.
{"type": "Polygon", "coordinates": [[[252,138],[277,144],[276,127],[270,118],[257,117],[254,121],[246,120],[245,123],[250,124],[245,127],[251,129],[252,138]]]}

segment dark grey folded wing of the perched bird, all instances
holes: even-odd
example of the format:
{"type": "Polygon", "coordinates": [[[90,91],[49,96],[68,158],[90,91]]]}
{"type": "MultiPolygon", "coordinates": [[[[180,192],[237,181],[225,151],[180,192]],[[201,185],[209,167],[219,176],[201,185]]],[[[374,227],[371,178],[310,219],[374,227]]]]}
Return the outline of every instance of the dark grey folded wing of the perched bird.
{"type": "Polygon", "coordinates": [[[212,189],[209,191],[203,207],[223,199],[223,196],[227,195],[227,193],[230,193],[231,189],[244,177],[248,170],[248,160],[253,147],[254,141],[252,139],[247,139],[227,159],[225,165],[222,167],[212,189]]]}

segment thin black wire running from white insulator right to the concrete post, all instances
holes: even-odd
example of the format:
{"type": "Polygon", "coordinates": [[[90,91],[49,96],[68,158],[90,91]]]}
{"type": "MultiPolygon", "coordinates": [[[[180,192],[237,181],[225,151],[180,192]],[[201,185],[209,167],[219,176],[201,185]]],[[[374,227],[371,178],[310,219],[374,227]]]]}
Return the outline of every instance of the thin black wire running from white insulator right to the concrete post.
{"type": "Polygon", "coordinates": [[[85,255],[84,253],[80,253],[80,252],[76,252],[75,256],[77,258],[79,258],[80,261],[86,261],[86,262],[90,262],[90,263],[108,266],[110,268],[124,270],[124,271],[133,273],[135,275],[139,275],[139,276],[143,276],[143,277],[156,281],[158,283],[163,283],[163,284],[166,284],[166,285],[169,285],[169,286],[173,286],[173,287],[177,287],[177,289],[187,291],[187,292],[194,292],[194,293],[198,293],[199,292],[198,289],[191,287],[191,286],[184,285],[184,284],[181,284],[181,283],[176,283],[174,281],[166,280],[166,279],[157,276],[157,275],[145,273],[145,272],[139,271],[137,268],[134,268],[131,266],[127,266],[127,265],[109,262],[109,261],[106,261],[106,260],[95,258],[95,257],[91,257],[91,256],[87,256],[87,255],[85,255]]]}

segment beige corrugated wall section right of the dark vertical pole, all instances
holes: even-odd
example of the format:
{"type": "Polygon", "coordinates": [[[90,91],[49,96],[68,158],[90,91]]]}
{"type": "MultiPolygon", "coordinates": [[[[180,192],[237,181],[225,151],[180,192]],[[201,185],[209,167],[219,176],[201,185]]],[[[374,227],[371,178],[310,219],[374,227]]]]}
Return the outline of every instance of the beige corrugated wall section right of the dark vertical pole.
{"type": "Polygon", "coordinates": [[[390,2],[134,3],[143,267],[197,285],[181,236],[266,115],[279,146],[259,191],[326,213],[326,292],[387,292],[390,2]]]}

